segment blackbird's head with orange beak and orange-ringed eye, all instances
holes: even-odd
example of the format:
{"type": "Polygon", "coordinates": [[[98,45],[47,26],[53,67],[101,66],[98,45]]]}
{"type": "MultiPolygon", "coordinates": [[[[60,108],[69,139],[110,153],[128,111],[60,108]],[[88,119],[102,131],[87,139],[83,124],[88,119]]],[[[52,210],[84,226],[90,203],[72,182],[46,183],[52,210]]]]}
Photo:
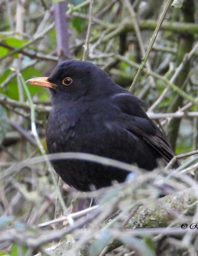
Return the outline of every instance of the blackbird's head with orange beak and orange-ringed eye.
{"type": "Polygon", "coordinates": [[[93,98],[112,91],[114,83],[109,75],[91,62],[68,60],[58,64],[49,77],[27,80],[28,84],[49,87],[53,99],[93,98]]]}

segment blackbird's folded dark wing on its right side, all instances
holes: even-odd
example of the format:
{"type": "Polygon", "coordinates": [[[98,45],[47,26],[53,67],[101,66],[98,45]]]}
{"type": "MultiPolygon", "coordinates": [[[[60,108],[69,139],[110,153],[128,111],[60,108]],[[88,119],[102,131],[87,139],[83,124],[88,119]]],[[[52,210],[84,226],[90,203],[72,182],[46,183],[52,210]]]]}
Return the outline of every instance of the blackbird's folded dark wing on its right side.
{"type": "MultiPolygon", "coordinates": [[[[123,126],[130,132],[142,137],[152,146],[166,162],[169,162],[174,153],[170,148],[165,136],[159,128],[148,118],[141,107],[146,105],[137,97],[129,93],[117,93],[111,97],[111,101],[121,114],[123,126]]],[[[173,168],[179,167],[179,162],[175,162],[173,168]]]]}

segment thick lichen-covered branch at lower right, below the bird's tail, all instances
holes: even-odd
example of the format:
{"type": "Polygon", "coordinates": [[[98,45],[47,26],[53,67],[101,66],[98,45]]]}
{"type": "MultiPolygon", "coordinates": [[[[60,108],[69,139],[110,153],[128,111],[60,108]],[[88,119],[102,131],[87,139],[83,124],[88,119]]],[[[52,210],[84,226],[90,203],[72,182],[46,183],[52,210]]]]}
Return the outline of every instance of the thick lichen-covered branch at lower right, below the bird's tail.
{"type": "Polygon", "coordinates": [[[198,186],[174,194],[166,195],[153,203],[140,206],[126,228],[166,227],[178,214],[193,213],[198,200],[198,186]]]}

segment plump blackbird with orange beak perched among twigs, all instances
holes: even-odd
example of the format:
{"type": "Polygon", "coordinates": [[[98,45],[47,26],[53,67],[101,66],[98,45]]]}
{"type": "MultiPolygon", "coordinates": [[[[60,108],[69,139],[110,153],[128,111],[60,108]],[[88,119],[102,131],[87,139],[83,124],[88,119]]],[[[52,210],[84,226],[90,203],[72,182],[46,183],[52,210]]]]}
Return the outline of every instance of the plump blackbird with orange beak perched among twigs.
{"type": "MultiPolygon", "coordinates": [[[[84,152],[148,171],[157,159],[169,162],[174,153],[165,136],[148,118],[136,96],[115,84],[90,62],[68,60],[49,77],[32,78],[28,84],[49,87],[52,110],[46,128],[49,153],[84,152]]],[[[82,160],[53,160],[62,180],[79,191],[124,182],[128,171],[82,160]]],[[[175,162],[173,168],[179,166],[175,162]]]]}

